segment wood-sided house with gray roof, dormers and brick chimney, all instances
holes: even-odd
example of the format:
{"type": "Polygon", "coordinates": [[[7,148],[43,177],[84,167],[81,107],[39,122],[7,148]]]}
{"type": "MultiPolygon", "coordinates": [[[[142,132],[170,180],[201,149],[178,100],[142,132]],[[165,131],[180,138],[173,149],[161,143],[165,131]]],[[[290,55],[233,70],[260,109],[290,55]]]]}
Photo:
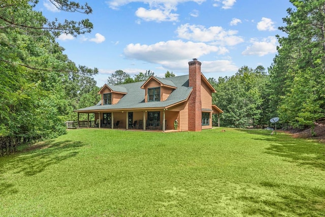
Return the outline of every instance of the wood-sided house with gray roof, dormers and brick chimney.
{"type": "Polygon", "coordinates": [[[151,76],[147,81],[123,85],[105,84],[102,100],[75,112],[95,116],[96,126],[142,130],[201,131],[212,128],[212,115],[223,113],[212,105],[216,90],[201,73],[201,62],[188,62],[189,75],[171,78],[151,76]]]}

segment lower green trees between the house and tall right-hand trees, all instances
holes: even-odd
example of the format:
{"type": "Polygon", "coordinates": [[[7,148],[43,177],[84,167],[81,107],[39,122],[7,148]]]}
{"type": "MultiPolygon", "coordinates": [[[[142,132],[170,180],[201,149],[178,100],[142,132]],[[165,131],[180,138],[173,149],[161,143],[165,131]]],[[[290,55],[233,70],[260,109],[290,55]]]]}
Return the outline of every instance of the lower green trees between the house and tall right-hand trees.
{"type": "Polygon", "coordinates": [[[257,66],[254,70],[243,66],[236,75],[220,77],[218,81],[210,78],[217,91],[212,96],[213,103],[224,112],[220,117],[221,124],[236,128],[263,126],[267,112],[263,93],[267,80],[263,66],[257,66]]]}

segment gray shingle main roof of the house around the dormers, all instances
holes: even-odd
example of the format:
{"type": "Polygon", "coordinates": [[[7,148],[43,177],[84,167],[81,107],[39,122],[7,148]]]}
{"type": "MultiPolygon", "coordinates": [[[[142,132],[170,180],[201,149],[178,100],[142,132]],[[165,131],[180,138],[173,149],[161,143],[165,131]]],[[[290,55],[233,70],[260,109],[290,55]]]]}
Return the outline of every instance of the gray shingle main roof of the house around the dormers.
{"type": "MultiPolygon", "coordinates": [[[[156,78],[156,77],[155,77],[156,78]]],[[[158,78],[157,78],[158,79],[158,78]]],[[[140,87],[145,82],[136,82],[131,84],[123,84],[123,85],[110,85],[109,87],[112,90],[122,90],[125,89],[126,91],[118,91],[118,92],[126,92],[117,104],[114,105],[101,105],[98,103],[97,105],[80,108],[76,110],[76,112],[82,111],[96,111],[96,110],[123,110],[123,109],[149,109],[154,107],[168,107],[170,105],[176,104],[178,102],[184,101],[188,98],[192,88],[188,87],[188,75],[185,76],[177,76],[171,78],[161,79],[159,81],[165,85],[177,87],[170,96],[165,101],[150,101],[144,102],[145,97],[145,90],[141,89],[140,87]]]]}

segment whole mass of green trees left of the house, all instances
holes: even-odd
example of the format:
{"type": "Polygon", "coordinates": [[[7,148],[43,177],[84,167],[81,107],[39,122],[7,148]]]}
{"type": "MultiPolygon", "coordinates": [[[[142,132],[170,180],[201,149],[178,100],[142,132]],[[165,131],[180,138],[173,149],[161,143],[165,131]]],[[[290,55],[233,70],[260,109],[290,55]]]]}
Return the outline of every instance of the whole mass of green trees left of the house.
{"type": "MultiPolygon", "coordinates": [[[[33,10],[37,0],[0,2],[0,155],[21,143],[54,138],[66,132],[73,110],[99,101],[98,69],[76,65],[55,42],[92,29],[88,19],[59,22],[33,10]]],[[[59,10],[91,13],[85,4],[52,0],[59,10]]]]}

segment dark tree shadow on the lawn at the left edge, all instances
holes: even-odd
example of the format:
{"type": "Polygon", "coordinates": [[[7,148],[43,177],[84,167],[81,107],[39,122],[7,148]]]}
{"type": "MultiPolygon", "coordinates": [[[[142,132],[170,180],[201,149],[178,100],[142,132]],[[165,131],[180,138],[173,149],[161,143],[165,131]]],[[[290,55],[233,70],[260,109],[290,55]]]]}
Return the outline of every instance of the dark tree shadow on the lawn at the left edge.
{"type": "Polygon", "coordinates": [[[80,141],[49,140],[35,144],[20,153],[0,158],[0,195],[17,193],[15,186],[5,179],[5,173],[36,175],[48,166],[75,157],[84,143],[80,141]]]}

